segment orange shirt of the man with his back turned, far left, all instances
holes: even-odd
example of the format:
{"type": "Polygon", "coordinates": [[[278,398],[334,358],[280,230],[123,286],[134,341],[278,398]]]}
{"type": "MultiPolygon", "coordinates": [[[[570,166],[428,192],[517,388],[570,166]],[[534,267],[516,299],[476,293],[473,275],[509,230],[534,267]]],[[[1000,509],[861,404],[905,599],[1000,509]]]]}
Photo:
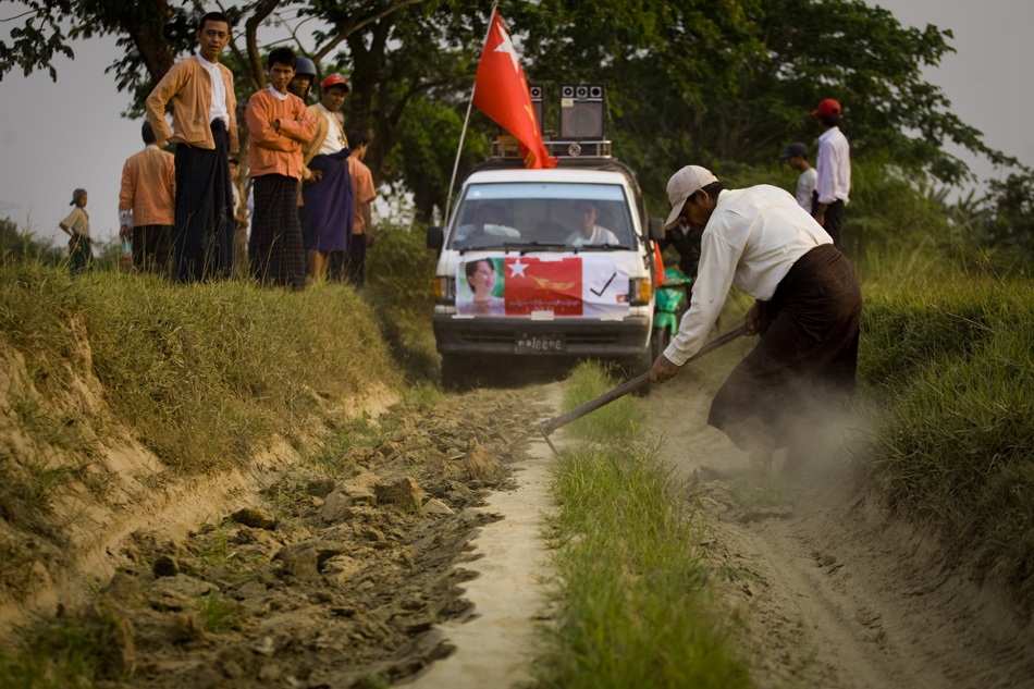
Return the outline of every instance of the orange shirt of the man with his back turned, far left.
{"type": "Polygon", "coordinates": [[[133,211],[133,224],[176,224],[175,157],[157,146],[130,156],[122,167],[119,210],[133,211]]]}

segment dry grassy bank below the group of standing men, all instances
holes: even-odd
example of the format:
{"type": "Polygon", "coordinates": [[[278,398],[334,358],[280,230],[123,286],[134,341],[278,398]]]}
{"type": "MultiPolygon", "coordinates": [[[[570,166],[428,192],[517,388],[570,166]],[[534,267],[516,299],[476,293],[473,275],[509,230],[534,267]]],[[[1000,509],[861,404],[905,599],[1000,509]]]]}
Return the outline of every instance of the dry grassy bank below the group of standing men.
{"type": "Polygon", "coordinates": [[[0,331],[42,396],[74,399],[96,377],[115,419],[183,471],[245,462],[324,406],[397,381],[369,306],[334,284],[72,279],[16,262],[0,267],[0,331]]]}

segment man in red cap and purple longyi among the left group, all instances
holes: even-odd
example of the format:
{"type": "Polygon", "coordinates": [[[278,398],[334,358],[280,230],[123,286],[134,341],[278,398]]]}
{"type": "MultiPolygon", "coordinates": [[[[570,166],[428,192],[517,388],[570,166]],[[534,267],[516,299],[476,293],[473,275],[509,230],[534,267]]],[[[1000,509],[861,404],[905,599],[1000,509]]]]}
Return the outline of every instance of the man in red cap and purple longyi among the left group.
{"type": "Polygon", "coordinates": [[[316,121],[316,134],[303,146],[301,187],[306,262],[308,282],[327,278],[331,258],[340,263],[348,251],[355,223],[355,189],[348,170],[348,139],[335,116],[345,104],[348,83],[340,74],[331,74],[320,85],[320,102],[309,106],[316,121]]]}

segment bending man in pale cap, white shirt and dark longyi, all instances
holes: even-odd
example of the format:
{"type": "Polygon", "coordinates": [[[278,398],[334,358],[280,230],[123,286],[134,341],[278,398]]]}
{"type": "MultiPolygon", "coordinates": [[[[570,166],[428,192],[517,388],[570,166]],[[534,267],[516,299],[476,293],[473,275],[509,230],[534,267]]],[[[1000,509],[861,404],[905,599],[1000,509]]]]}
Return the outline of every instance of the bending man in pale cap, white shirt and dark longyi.
{"type": "Polygon", "coordinates": [[[667,186],[665,227],[702,233],[697,283],[672,344],[653,364],[663,383],[700,350],[729,287],[754,297],[747,313],[758,346],[715,395],[707,422],[767,467],[790,445],[784,472],[804,459],[816,410],[842,407],[854,392],[862,296],[854,270],[786,190],[726,190],[711,171],[688,165],[667,186]]]}

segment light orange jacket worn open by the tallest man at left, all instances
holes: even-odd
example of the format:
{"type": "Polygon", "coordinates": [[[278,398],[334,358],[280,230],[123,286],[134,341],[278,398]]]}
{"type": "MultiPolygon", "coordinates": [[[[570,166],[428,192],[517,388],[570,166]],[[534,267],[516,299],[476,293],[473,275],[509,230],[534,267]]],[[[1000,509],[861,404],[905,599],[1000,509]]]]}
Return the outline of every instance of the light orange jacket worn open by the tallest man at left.
{"type": "MultiPolygon", "coordinates": [[[[226,123],[227,148],[234,153],[238,144],[237,121],[234,116],[237,99],[233,95],[233,72],[220,63],[219,73],[222,74],[226,89],[226,112],[230,113],[230,122],[226,123]]],[[[151,123],[155,137],[159,142],[168,139],[173,144],[186,144],[209,150],[216,148],[208,119],[211,106],[212,78],[208,70],[198,62],[197,56],[190,56],[172,65],[151,90],[145,104],[147,121],[151,123]],[[171,131],[165,122],[165,104],[169,102],[172,102],[171,131]]]]}

